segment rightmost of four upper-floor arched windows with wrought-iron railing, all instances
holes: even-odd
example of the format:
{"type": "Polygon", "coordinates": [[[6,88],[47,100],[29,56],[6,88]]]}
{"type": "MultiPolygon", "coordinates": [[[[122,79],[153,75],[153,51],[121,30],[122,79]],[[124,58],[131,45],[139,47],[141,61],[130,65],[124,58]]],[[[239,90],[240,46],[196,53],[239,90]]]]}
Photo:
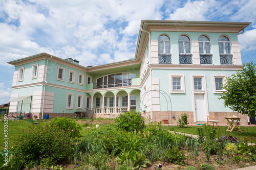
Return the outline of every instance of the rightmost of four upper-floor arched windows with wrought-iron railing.
{"type": "Polygon", "coordinates": [[[218,41],[221,64],[233,64],[233,55],[230,53],[230,40],[226,36],[220,36],[218,41]]]}

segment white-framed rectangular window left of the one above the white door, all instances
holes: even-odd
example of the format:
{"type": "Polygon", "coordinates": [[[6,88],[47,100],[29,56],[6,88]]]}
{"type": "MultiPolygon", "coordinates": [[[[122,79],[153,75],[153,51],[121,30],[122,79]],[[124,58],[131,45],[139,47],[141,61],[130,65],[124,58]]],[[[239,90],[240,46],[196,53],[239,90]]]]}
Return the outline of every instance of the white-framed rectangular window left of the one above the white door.
{"type": "Polygon", "coordinates": [[[185,93],[184,75],[170,75],[170,92],[185,93]]]}

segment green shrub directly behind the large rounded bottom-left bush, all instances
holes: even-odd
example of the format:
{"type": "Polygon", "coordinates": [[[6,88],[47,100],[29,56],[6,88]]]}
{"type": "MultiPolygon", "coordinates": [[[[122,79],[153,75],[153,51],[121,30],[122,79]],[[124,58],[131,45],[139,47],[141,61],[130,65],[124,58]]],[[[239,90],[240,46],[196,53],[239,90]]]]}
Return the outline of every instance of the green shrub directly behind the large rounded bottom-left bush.
{"type": "Polygon", "coordinates": [[[81,137],[81,126],[75,120],[68,117],[55,117],[52,119],[50,125],[57,126],[63,130],[69,136],[68,142],[70,142],[71,138],[75,139],[81,137]]]}

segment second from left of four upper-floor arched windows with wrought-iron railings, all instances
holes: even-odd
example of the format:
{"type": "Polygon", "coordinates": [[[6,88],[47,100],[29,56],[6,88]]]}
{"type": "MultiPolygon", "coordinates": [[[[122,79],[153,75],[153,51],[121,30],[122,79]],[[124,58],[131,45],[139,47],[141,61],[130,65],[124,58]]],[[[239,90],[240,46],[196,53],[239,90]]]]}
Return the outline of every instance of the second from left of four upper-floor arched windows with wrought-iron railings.
{"type": "Polygon", "coordinates": [[[180,64],[192,64],[190,39],[185,35],[179,37],[179,60],[180,64]]]}

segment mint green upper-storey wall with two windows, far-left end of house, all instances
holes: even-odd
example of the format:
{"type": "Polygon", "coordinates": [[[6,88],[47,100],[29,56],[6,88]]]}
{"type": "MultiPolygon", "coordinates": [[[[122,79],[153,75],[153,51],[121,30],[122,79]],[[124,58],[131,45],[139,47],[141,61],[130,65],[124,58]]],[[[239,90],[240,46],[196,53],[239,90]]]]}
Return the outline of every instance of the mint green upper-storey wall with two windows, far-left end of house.
{"type": "Polygon", "coordinates": [[[41,80],[38,80],[39,66],[40,65],[45,65],[45,64],[46,64],[45,60],[39,60],[39,61],[31,62],[31,63],[28,63],[28,64],[23,64],[23,65],[16,66],[15,71],[18,71],[19,68],[24,67],[23,81],[17,81],[17,86],[18,85],[41,82],[41,80]],[[32,67],[33,67],[34,64],[38,64],[37,78],[32,79],[32,71],[33,71],[32,67]]]}

